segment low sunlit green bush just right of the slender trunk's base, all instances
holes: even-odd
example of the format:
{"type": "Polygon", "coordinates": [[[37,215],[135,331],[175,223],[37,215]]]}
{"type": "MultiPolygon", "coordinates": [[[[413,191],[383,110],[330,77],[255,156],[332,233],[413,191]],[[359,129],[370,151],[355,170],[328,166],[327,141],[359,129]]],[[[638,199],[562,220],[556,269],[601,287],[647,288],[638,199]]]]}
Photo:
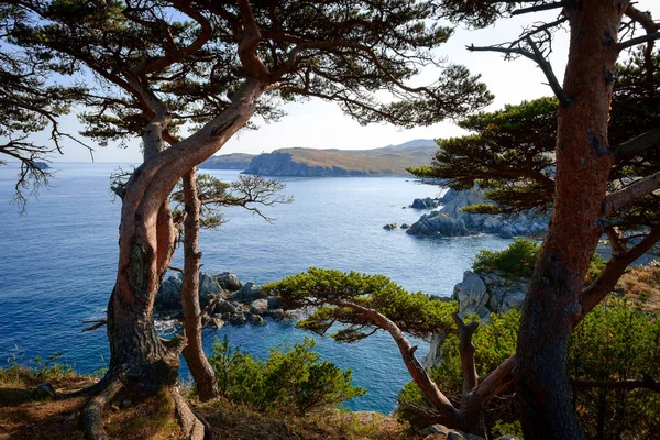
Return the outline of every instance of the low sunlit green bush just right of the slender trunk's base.
{"type": "Polygon", "coordinates": [[[209,358],[220,394],[257,409],[296,414],[337,406],[360,397],[366,389],[353,386],[350,370],[342,371],[314,352],[315,341],[306,338],[294,346],[270,350],[265,361],[255,360],[227,338],[213,344],[209,358]]]}

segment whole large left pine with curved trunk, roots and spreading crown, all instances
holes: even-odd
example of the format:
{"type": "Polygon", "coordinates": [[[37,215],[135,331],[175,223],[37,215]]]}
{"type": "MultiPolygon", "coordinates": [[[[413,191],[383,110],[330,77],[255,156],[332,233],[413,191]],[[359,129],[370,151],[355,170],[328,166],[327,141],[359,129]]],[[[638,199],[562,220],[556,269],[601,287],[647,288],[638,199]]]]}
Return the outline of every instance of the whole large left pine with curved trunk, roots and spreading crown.
{"type": "MultiPolygon", "coordinates": [[[[361,123],[404,127],[461,116],[491,100],[461,66],[429,87],[408,80],[436,65],[430,48],[451,30],[427,23],[430,2],[396,1],[11,1],[25,13],[7,38],[52,57],[90,82],[84,134],[102,142],[141,136],[144,163],[122,199],[118,275],[108,305],[111,361],[84,411],[90,438],[124,388],[170,388],[191,436],[201,426],[178,398],[185,338],[163,341],[153,322],[175,243],[168,196],[182,176],[255,114],[278,101],[337,101],[361,123]],[[392,101],[380,102],[386,90],[392,101]],[[187,420],[187,421],[186,421],[187,420]]],[[[322,121],[319,121],[322,123],[322,121]]]]}

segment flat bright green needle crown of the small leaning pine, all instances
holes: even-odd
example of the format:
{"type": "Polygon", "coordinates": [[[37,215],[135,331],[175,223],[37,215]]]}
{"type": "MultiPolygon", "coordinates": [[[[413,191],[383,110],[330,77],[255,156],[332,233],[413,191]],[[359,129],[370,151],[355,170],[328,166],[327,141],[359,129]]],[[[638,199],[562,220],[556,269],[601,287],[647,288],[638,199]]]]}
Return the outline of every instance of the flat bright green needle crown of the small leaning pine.
{"type": "Polygon", "coordinates": [[[353,304],[382,314],[402,331],[428,338],[436,331],[453,331],[451,314],[455,301],[432,299],[428,295],[408,293],[384,275],[310,267],[306,273],[288,276],[264,286],[276,295],[285,308],[317,308],[299,326],[324,334],[334,323],[345,324],[332,337],[340,342],[353,342],[373,333],[374,322],[353,304]]]}

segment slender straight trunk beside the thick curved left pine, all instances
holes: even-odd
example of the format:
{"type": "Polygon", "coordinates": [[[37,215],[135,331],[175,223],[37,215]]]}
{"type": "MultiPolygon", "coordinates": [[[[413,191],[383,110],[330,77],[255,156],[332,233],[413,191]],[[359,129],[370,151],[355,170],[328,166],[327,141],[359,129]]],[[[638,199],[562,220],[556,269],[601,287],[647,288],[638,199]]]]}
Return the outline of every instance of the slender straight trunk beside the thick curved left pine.
{"type": "Polygon", "coordinates": [[[184,324],[188,344],[184,348],[184,358],[197,385],[197,395],[205,402],[218,397],[218,386],[213,369],[204,353],[201,344],[201,309],[199,307],[199,209],[197,194],[197,168],[183,177],[186,220],[184,221],[184,284],[182,305],[184,324]]]}

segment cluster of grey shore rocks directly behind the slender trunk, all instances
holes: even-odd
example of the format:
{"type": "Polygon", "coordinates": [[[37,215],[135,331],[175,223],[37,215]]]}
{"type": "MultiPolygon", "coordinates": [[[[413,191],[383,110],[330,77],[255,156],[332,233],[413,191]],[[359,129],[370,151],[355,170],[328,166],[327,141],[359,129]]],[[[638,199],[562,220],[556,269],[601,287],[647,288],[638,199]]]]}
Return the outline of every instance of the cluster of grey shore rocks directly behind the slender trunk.
{"type": "MultiPolygon", "coordinates": [[[[183,274],[175,273],[161,284],[154,304],[160,319],[183,319],[183,274]]],[[[282,308],[277,298],[267,296],[260,285],[243,283],[230,272],[199,274],[199,305],[205,327],[220,328],[227,322],[258,326],[265,323],[266,317],[278,321],[294,317],[294,314],[282,308]]]]}

